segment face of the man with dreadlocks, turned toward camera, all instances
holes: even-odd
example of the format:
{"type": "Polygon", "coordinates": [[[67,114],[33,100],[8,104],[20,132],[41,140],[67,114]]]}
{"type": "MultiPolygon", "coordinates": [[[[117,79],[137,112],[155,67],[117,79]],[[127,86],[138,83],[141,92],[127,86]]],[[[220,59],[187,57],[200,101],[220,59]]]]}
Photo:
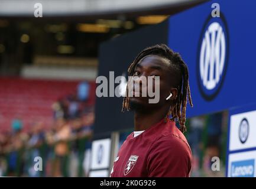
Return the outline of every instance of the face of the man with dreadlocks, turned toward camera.
{"type": "MultiPolygon", "coordinates": [[[[170,95],[172,89],[173,82],[171,81],[175,79],[171,76],[170,62],[166,58],[155,55],[142,58],[135,67],[133,76],[137,76],[139,79],[135,80],[133,87],[128,87],[129,92],[134,94],[133,97],[129,97],[131,109],[147,110],[149,107],[157,108],[166,105],[166,97],[170,95]],[[156,86],[155,76],[160,77],[159,86],[156,86]],[[142,77],[147,78],[147,81],[148,77],[152,77],[153,82],[143,83],[143,80],[140,80],[142,77]],[[140,87],[140,90],[136,90],[138,87],[140,87]],[[152,99],[149,95],[142,97],[142,90],[148,92],[148,89],[153,89],[154,92],[157,89],[159,90],[159,101],[157,103],[148,103],[148,100],[152,99]],[[137,97],[138,94],[140,94],[140,97],[137,97]]],[[[157,94],[157,92],[155,93],[157,94]]]]}

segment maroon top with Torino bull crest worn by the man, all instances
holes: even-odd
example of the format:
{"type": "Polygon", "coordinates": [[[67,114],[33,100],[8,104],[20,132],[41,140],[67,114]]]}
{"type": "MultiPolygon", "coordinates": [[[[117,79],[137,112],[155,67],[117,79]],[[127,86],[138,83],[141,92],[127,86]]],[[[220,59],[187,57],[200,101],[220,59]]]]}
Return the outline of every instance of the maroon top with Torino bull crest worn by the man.
{"type": "Polygon", "coordinates": [[[114,161],[111,177],[189,177],[192,152],[175,122],[164,119],[134,138],[132,132],[114,161]]]}

